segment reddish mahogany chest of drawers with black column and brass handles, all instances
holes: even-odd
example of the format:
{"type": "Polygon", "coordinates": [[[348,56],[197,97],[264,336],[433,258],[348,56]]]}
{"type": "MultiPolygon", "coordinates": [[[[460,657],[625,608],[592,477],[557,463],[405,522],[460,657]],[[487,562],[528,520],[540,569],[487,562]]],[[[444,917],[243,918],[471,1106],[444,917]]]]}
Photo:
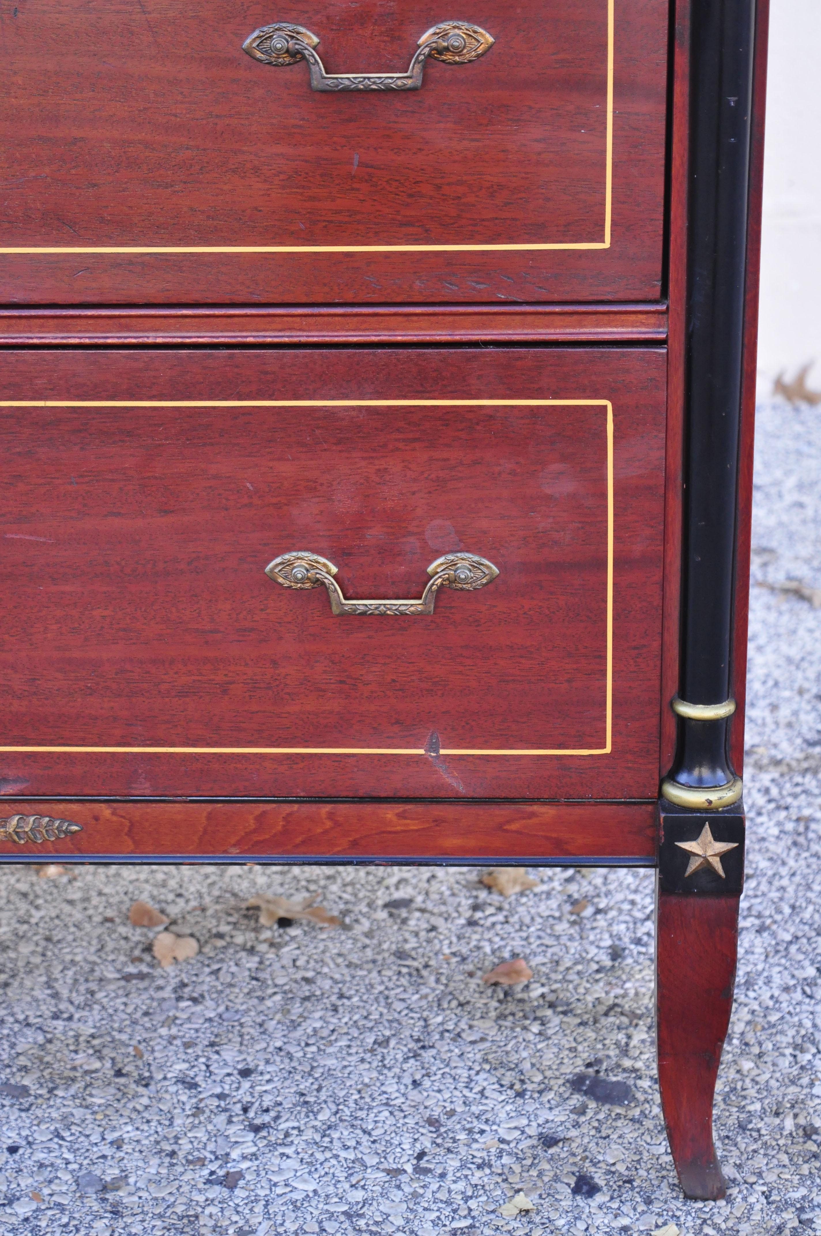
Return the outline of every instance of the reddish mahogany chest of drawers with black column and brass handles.
{"type": "Polygon", "coordinates": [[[722,1196],[765,4],[45,10],[2,859],[655,866],[670,1143],[722,1196]]]}

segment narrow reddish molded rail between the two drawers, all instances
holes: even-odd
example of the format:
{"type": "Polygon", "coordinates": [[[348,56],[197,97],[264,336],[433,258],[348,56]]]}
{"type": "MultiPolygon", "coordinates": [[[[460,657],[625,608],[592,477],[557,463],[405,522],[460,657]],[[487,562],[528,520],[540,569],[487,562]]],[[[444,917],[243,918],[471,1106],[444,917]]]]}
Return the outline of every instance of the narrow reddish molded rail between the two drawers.
{"type": "Polygon", "coordinates": [[[664,344],[666,303],[0,309],[0,344],[664,344]]]}

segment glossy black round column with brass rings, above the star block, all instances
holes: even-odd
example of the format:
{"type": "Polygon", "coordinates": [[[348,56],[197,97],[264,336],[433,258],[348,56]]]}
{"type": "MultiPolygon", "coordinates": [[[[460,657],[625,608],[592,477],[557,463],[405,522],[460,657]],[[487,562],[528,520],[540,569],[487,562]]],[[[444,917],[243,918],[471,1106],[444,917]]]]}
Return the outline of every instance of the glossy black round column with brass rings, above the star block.
{"type": "MultiPolygon", "coordinates": [[[[731,692],[754,7],[692,2],[679,685],[690,706],[721,705],[731,692]]],[[[734,782],[728,724],[679,714],[674,786],[734,782]]]]}

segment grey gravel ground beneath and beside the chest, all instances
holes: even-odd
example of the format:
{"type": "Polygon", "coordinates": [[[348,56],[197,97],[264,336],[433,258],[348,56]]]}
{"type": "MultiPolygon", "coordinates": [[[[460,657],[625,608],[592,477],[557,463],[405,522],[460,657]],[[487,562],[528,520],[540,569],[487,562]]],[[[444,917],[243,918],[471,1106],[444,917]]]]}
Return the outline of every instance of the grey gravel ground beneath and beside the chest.
{"type": "Polygon", "coordinates": [[[686,1201],[666,1149],[650,871],[503,899],[470,869],[9,868],[0,1232],[821,1231],[821,595],[780,588],[821,587],[820,476],[821,409],[764,407],[726,1203],[686,1201]],[[261,927],[258,892],[344,925],[261,927]],[[137,897],[200,954],[160,969],[137,897]],[[482,984],[517,957],[532,981],[482,984]],[[627,1103],[575,1093],[585,1068],[627,1103]]]}

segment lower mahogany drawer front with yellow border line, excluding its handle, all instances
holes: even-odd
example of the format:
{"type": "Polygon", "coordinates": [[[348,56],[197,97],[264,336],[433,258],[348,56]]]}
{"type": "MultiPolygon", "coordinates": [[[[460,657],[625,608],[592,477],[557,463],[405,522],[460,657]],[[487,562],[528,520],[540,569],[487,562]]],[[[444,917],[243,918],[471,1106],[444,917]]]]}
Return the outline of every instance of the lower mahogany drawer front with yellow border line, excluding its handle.
{"type": "Polygon", "coordinates": [[[9,353],[5,792],[654,797],[665,370],[9,353]],[[418,598],[454,552],[498,576],[335,616],[265,574],[297,550],[346,598],[418,598]]]}

